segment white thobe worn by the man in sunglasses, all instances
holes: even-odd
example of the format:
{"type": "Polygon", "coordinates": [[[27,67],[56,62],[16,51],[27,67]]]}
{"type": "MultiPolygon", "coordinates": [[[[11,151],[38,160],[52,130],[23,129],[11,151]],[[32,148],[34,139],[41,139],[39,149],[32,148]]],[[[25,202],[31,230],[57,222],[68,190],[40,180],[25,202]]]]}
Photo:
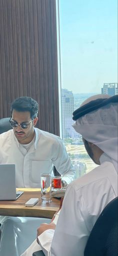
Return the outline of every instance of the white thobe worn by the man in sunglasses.
{"type": "MultiPolygon", "coordinates": [[[[35,141],[28,151],[18,143],[13,130],[0,135],[0,163],[15,164],[16,187],[40,187],[40,173],[51,173],[52,165],[67,183],[72,181],[75,178],[75,171],[62,140],[39,129],[34,130],[35,141]]],[[[19,256],[34,240],[40,223],[47,223],[50,220],[1,216],[0,222],[0,256],[19,256]]]]}

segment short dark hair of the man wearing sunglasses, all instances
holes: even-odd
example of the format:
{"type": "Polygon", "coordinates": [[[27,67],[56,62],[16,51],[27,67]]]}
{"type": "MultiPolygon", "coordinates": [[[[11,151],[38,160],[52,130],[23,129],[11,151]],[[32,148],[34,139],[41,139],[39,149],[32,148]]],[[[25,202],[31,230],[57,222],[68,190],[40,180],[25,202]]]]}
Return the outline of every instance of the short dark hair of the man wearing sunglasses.
{"type": "Polygon", "coordinates": [[[38,113],[38,103],[31,97],[19,97],[11,103],[11,114],[13,109],[18,112],[29,111],[30,117],[33,119],[37,116],[38,113]]]}

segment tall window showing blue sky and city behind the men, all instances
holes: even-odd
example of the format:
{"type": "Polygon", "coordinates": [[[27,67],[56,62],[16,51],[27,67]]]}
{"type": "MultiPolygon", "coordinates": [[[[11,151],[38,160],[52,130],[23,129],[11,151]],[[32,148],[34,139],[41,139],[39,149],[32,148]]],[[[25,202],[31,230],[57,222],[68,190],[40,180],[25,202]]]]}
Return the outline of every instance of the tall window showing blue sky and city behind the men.
{"type": "Polygon", "coordinates": [[[62,139],[79,177],[96,165],[72,112],[91,95],[117,93],[117,1],[59,0],[58,17],[62,139]]]}

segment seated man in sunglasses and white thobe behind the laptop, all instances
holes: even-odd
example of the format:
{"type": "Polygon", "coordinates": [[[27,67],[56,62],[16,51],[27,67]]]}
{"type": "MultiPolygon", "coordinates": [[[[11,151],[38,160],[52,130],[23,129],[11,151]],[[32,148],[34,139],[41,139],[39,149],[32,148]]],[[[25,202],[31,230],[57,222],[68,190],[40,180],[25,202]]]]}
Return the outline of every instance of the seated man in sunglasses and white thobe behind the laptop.
{"type": "MultiPolygon", "coordinates": [[[[38,103],[30,97],[19,97],[12,102],[13,129],[0,135],[0,163],[15,164],[16,187],[39,188],[40,173],[51,174],[52,166],[68,184],[75,178],[75,171],[62,140],[34,127],[37,112],[38,103]]],[[[0,256],[19,256],[34,240],[35,230],[44,221],[50,220],[1,216],[0,256]]]]}

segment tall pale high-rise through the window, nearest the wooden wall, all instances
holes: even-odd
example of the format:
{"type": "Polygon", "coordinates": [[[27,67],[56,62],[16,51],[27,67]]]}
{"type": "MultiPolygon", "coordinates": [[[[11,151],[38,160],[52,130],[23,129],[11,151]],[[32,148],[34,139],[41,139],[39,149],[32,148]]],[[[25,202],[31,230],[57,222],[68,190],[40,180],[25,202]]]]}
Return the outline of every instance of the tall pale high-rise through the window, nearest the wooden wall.
{"type": "Polygon", "coordinates": [[[62,116],[62,139],[75,138],[72,128],[72,112],[74,111],[74,97],[72,91],[61,89],[61,116],[62,116]]]}

